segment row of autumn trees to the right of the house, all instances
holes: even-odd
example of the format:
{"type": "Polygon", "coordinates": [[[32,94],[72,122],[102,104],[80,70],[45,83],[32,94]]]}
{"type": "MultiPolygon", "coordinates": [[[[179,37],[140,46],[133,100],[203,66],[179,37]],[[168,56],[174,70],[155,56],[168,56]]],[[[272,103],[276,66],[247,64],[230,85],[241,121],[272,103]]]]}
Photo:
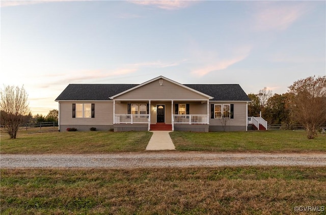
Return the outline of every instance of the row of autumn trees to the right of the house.
{"type": "Polygon", "coordinates": [[[302,125],[307,137],[313,139],[318,129],[326,127],[326,76],[308,77],[295,81],[284,94],[274,94],[266,87],[258,94],[248,94],[252,100],[249,116],[259,116],[268,124],[279,124],[282,129],[292,130],[302,125]]]}

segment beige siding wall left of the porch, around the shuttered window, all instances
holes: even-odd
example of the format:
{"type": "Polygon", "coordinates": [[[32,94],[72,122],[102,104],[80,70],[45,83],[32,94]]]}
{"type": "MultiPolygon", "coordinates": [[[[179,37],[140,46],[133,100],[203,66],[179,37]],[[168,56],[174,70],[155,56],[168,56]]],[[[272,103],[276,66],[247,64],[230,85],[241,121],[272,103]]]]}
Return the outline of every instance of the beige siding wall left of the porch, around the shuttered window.
{"type": "MultiPolygon", "coordinates": [[[[113,102],[59,102],[60,103],[60,125],[113,125],[113,102]],[[72,104],[93,103],[95,104],[94,118],[72,118],[72,104]]],[[[62,129],[61,129],[62,130],[62,129]]]]}

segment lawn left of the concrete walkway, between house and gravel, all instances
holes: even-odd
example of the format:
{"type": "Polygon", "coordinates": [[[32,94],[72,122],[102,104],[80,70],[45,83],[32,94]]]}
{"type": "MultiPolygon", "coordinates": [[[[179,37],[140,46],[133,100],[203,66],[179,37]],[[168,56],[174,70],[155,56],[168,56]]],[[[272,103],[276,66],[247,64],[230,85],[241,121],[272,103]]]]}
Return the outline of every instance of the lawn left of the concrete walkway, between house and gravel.
{"type": "MultiPolygon", "coordinates": [[[[6,135],[5,133],[1,133],[6,135]]],[[[19,131],[17,139],[1,137],[1,153],[110,153],[145,150],[151,132],[19,131]]]]}

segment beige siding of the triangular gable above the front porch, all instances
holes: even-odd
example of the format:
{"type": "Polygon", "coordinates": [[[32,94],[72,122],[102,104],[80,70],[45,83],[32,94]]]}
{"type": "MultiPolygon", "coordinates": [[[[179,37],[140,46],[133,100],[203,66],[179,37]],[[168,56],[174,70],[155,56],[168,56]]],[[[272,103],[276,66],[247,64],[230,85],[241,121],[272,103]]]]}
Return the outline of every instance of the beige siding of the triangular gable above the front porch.
{"type": "MultiPolygon", "coordinates": [[[[163,80],[163,79],[162,79],[163,80]]],[[[191,89],[184,88],[175,83],[163,80],[160,85],[159,80],[145,84],[122,94],[115,99],[131,100],[207,100],[208,98],[200,95],[191,89]]]]}

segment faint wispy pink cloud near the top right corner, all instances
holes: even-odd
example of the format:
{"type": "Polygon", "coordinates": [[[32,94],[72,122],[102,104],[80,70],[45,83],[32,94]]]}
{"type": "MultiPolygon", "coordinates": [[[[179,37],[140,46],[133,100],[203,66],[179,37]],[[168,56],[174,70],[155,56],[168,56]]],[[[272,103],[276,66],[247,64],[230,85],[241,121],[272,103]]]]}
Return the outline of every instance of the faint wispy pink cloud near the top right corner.
{"type": "Polygon", "coordinates": [[[254,14],[254,29],[285,30],[293,22],[307,13],[309,7],[306,4],[285,4],[275,2],[258,2],[257,13],[254,14]]]}

